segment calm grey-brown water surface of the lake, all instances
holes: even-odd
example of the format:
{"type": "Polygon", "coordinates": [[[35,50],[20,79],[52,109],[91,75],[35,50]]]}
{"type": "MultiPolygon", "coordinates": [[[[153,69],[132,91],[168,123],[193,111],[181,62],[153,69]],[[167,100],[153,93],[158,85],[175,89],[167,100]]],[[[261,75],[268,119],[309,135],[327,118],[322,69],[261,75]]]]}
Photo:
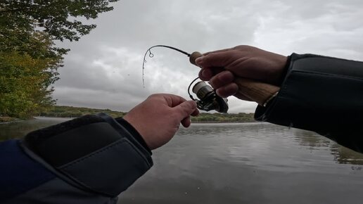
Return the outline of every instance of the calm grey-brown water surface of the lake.
{"type": "MultiPolygon", "coordinates": [[[[0,139],[63,119],[0,125],[0,139]]],[[[267,123],[193,124],[153,151],[119,203],[362,203],[363,155],[267,123]]]]}

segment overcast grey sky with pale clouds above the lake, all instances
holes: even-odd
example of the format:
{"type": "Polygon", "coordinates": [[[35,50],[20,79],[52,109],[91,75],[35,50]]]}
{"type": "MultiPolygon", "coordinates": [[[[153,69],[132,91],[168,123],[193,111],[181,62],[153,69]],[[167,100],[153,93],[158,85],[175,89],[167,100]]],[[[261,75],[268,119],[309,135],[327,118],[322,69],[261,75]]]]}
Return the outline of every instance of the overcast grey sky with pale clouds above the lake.
{"type": "MultiPolygon", "coordinates": [[[[58,105],[128,111],[155,93],[188,98],[199,68],[170,49],[189,53],[240,44],[284,55],[317,53],[363,60],[363,1],[359,0],[121,0],[99,15],[97,25],[70,48],[59,69],[58,105]]],[[[229,97],[229,113],[255,110],[256,103],[229,97]]]]}

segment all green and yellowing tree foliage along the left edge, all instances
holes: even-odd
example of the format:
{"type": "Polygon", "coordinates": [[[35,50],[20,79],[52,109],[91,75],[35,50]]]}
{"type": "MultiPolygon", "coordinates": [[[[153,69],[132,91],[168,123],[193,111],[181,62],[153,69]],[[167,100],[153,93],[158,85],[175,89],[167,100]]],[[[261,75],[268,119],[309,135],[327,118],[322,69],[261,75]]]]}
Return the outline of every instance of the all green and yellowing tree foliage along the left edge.
{"type": "Polygon", "coordinates": [[[96,25],[76,18],[97,18],[114,1],[0,1],[0,116],[29,117],[55,103],[51,84],[68,49],[54,42],[88,34],[96,25]]]}

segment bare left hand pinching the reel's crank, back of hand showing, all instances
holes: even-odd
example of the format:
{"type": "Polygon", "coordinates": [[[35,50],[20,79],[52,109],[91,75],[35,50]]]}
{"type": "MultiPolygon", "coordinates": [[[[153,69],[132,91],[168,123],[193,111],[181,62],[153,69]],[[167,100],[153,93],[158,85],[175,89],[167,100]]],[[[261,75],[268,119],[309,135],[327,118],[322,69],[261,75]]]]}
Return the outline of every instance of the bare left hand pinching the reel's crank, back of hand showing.
{"type": "Polygon", "coordinates": [[[190,115],[199,114],[195,101],[172,94],[153,94],[123,118],[129,122],[152,150],[166,144],[179,129],[189,127],[190,115]]]}

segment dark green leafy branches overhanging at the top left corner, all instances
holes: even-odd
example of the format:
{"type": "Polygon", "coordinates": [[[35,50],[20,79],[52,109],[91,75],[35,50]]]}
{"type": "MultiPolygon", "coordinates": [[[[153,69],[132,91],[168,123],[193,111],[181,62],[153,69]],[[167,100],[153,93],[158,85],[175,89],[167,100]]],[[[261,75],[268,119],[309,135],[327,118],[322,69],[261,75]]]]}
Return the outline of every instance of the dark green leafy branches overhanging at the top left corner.
{"type": "Polygon", "coordinates": [[[98,13],[112,11],[108,5],[115,1],[119,0],[3,0],[0,12],[16,16],[15,26],[42,27],[53,39],[77,41],[96,25],[84,25],[75,18],[97,18],[98,13]]]}

